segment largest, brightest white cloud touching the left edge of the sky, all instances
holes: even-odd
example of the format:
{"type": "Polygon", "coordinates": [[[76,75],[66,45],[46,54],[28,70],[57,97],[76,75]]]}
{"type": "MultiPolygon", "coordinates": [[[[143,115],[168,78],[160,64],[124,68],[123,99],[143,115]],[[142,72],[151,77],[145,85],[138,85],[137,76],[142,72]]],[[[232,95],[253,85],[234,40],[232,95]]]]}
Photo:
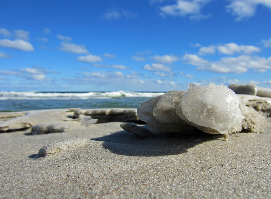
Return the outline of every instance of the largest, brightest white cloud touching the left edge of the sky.
{"type": "Polygon", "coordinates": [[[33,46],[24,40],[16,39],[14,41],[11,41],[9,39],[0,39],[0,46],[7,47],[7,48],[14,48],[19,49],[23,51],[33,51],[33,46]]]}

